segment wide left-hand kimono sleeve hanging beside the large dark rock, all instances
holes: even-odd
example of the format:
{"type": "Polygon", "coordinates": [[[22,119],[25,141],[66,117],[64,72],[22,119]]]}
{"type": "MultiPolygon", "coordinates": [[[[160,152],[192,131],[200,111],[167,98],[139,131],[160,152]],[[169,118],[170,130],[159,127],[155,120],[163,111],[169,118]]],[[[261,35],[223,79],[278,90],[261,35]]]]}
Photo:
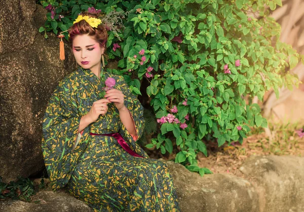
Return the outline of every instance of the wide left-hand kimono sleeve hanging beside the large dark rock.
{"type": "Polygon", "coordinates": [[[53,191],[67,184],[79,156],[87,146],[89,126],[84,129],[79,145],[72,150],[80,119],[70,82],[63,80],[50,97],[42,123],[42,151],[53,191]]]}

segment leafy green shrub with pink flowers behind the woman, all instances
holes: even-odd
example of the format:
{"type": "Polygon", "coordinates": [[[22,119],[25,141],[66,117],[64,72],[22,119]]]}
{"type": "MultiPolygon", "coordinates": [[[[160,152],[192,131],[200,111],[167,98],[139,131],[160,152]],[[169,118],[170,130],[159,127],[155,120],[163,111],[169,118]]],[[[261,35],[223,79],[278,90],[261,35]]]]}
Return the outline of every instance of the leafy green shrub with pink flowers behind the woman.
{"type": "Polygon", "coordinates": [[[56,14],[53,18],[47,14],[40,31],[56,34],[89,7],[106,14],[130,11],[124,20],[126,28],[119,34],[121,41],[109,31],[109,59],[119,60],[120,67],[111,71],[124,74],[136,94],[140,94],[140,80],[150,80],[146,92],[152,97],[158,122],[167,117],[171,123],[161,124],[161,133],[147,147],[156,146],[163,154],[177,150],[175,162],[201,175],[210,173],[198,167],[196,160],[198,152],[207,155],[205,137],[215,137],[219,146],[236,140],[242,143],[249,126],[267,127],[252,98],[262,101],[271,88],[278,96],[280,87],[292,89],[299,83],[288,71],[298,63],[299,54],[279,41],[280,25],[268,17],[267,6],[274,10],[282,6],[281,0],[41,3],[45,7],[50,3],[56,14]],[[248,17],[247,11],[260,17],[248,17]],[[64,16],[61,20],[59,14],[64,16]],[[113,44],[120,48],[112,49],[113,44]]]}

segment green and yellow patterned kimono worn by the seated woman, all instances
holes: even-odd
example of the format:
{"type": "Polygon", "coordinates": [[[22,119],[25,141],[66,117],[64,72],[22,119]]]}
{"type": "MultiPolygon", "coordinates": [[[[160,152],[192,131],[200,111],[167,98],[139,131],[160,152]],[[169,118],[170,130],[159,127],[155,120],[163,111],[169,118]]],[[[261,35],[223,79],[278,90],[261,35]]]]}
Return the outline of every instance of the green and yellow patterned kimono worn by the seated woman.
{"type": "Polygon", "coordinates": [[[167,164],[149,158],[136,144],[144,127],[142,105],[123,77],[107,72],[104,76],[114,78],[114,88],[124,93],[136,135],[128,132],[115,105],[108,103],[107,113],[84,129],[73,149],[80,119],[100,99],[102,89],[101,80],[79,66],[59,82],[42,123],[42,150],[53,191],[66,186],[95,211],[180,211],[167,164]],[[113,136],[90,134],[114,132],[142,157],[130,155],[113,136]]]}

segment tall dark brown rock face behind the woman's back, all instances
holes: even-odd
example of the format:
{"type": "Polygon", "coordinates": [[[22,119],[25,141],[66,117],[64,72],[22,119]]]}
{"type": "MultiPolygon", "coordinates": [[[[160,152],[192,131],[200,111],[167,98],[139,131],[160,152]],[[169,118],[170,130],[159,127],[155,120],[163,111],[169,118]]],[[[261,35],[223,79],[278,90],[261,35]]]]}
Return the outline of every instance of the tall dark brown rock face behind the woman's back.
{"type": "Polygon", "coordinates": [[[9,183],[44,168],[43,116],[58,82],[76,63],[70,51],[59,60],[54,33],[47,40],[39,33],[46,10],[34,0],[0,1],[0,7],[0,176],[9,183]]]}

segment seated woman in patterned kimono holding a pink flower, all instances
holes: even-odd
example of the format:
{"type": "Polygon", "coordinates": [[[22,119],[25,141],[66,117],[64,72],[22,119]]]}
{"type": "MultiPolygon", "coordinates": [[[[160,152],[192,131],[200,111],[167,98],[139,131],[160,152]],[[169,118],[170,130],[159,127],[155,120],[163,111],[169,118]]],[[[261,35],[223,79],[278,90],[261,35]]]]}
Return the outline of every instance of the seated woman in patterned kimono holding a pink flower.
{"type": "Polygon", "coordinates": [[[107,32],[97,14],[69,29],[79,65],[59,82],[43,121],[42,149],[53,191],[67,187],[95,211],[179,211],[166,163],[136,144],[143,107],[124,78],[105,72],[107,32]],[[115,86],[105,89],[104,80],[115,86]]]}

